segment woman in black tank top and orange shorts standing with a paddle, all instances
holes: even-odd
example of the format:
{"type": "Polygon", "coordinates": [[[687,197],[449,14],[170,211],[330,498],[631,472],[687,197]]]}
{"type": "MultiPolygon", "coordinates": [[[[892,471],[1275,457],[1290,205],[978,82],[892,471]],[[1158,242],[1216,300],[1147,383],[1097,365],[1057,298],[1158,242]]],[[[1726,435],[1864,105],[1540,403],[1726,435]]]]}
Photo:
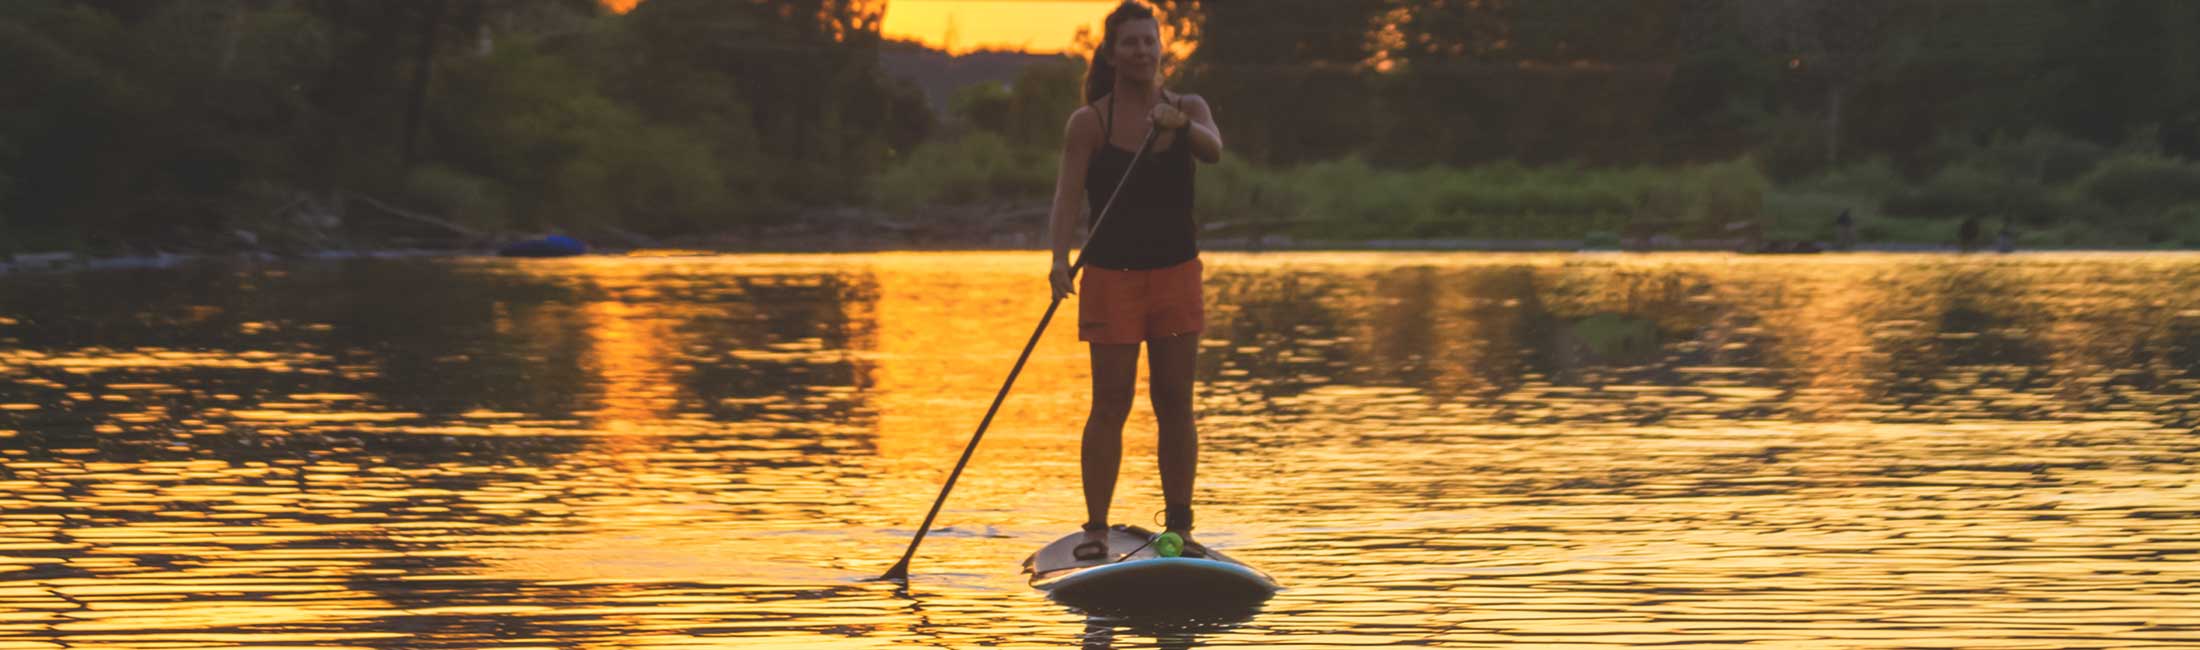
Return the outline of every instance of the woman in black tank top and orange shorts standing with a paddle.
{"type": "MultiPolygon", "coordinates": [[[[1054,297],[1078,297],[1078,339],[1091,344],[1093,405],[1085,419],[1085,542],[1078,560],[1107,557],[1107,509],[1122,461],[1122,423],[1137,392],[1137,348],[1146,344],[1148,399],[1162,425],[1162,502],[1166,529],[1190,544],[1192,476],[1199,434],[1192,430],[1192,361],[1206,326],[1199,286],[1199,242],[1192,225],[1192,161],[1223,154],[1214,115],[1199,95],[1162,88],[1162,22],[1131,0],[1107,15],[1100,48],[1085,73],[1085,106],[1069,115],[1060,176],[1054,178],[1054,297]],[[1146,132],[1153,145],[1137,156],[1146,132]],[[1131,170],[1137,159],[1137,170],[1131,170]],[[1129,174],[1129,181],[1124,181],[1129,174]],[[1122,196],[1102,218],[1102,207],[1122,196]],[[1082,201],[1080,201],[1082,198],[1082,201]],[[1098,223],[1085,247],[1085,275],[1069,282],[1078,207],[1098,223]]],[[[1129,549],[1124,549],[1129,551],[1129,549]]]]}

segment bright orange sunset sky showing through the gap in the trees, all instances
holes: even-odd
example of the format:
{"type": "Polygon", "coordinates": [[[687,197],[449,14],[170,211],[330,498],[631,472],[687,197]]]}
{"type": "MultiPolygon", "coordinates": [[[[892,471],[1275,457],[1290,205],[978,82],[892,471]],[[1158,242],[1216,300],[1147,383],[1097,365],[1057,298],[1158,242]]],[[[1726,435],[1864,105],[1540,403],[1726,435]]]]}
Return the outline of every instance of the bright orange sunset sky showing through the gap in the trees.
{"type": "MultiPolygon", "coordinates": [[[[627,11],[640,0],[603,0],[627,11]]],[[[889,0],[887,37],[920,40],[935,48],[968,53],[1010,48],[1058,53],[1078,26],[1100,29],[1100,18],[1118,0],[889,0]],[[950,35],[953,31],[953,35],[950,35]],[[953,42],[950,42],[953,40],[953,42]]]]}

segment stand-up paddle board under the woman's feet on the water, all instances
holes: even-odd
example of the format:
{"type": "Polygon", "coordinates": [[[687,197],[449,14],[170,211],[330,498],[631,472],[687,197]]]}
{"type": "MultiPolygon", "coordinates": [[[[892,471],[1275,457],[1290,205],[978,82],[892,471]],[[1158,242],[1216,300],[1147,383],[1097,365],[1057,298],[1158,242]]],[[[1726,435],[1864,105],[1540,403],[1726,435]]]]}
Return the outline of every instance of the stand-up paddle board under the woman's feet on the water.
{"type": "Polygon", "coordinates": [[[1078,560],[1076,546],[1085,542],[1085,531],[1076,531],[1025,557],[1023,573],[1032,575],[1034,588],[1060,604],[1104,610],[1250,608],[1280,588],[1267,573],[1214,549],[1186,549],[1186,555],[1206,557],[1162,557],[1146,544],[1153,535],[1115,524],[1107,531],[1107,553],[1078,560]]]}

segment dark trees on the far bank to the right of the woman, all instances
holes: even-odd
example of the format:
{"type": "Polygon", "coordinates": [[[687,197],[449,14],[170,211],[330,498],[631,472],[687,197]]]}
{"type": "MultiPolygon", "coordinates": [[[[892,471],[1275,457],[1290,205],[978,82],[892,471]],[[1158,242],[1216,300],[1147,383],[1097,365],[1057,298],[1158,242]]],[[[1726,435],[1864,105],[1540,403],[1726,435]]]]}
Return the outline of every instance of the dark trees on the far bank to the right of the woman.
{"type": "Polygon", "coordinates": [[[2200,154],[2176,0],[1162,0],[1269,161],[1929,163],[2057,132],[2200,154]],[[1287,104],[1278,104],[1287,101],[1287,104]]]}

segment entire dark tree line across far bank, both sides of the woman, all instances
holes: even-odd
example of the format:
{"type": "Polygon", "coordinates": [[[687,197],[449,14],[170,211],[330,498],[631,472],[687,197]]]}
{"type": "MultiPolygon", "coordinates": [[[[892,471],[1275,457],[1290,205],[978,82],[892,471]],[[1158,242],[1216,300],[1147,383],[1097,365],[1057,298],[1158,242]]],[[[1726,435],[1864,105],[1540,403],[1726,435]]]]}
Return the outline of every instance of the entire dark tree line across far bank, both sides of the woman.
{"type": "MultiPolygon", "coordinates": [[[[2143,205],[2176,220],[2200,205],[2191,2],[1155,4],[1181,42],[1173,84],[1206,95],[1232,154],[1263,167],[1747,159],[1773,183],[1899,176],[1877,196],[1888,212],[2046,223],[2143,205]],[[2079,183],[2110,163],[2121,176],[2079,183]],[[2009,205],[2024,187],[2042,198],[2009,205]],[[2057,192],[2094,207],[2044,196],[2057,192]]],[[[939,194],[924,167],[972,132],[1005,143],[979,150],[1001,167],[1052,163],[1082,62],[933,115],[880,71],[880,51],[904,46],[878,35],[884,9],[0,0],[0,236],[35,249],[282,231],[284,207],[339,192],[484,231],[664,236],[1045,183],[1019,172],[939,194]]]]}

